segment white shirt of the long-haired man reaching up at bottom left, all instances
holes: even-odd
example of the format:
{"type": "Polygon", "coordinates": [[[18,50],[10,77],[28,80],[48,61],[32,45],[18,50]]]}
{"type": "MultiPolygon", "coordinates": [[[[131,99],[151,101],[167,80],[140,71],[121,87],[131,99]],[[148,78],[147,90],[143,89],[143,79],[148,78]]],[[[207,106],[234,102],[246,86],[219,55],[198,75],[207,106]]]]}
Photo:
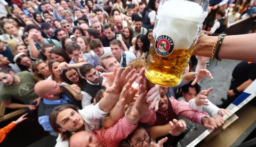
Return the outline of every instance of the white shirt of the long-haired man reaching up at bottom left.
{"type": "MultiPolygon", "coordinates": [[[[100,123],[98,120],[108,115],[108,112],[100,110],[99,103],[95,105],[88,105],[82,110],[78,110],[78,113],[84,119],[84,128],[86,131],[100,129],[100,123]]],[[[68,147],[68,141],[61,141],[60,134],[56,141],[57,144],[55,147],[68,147]]]]}

